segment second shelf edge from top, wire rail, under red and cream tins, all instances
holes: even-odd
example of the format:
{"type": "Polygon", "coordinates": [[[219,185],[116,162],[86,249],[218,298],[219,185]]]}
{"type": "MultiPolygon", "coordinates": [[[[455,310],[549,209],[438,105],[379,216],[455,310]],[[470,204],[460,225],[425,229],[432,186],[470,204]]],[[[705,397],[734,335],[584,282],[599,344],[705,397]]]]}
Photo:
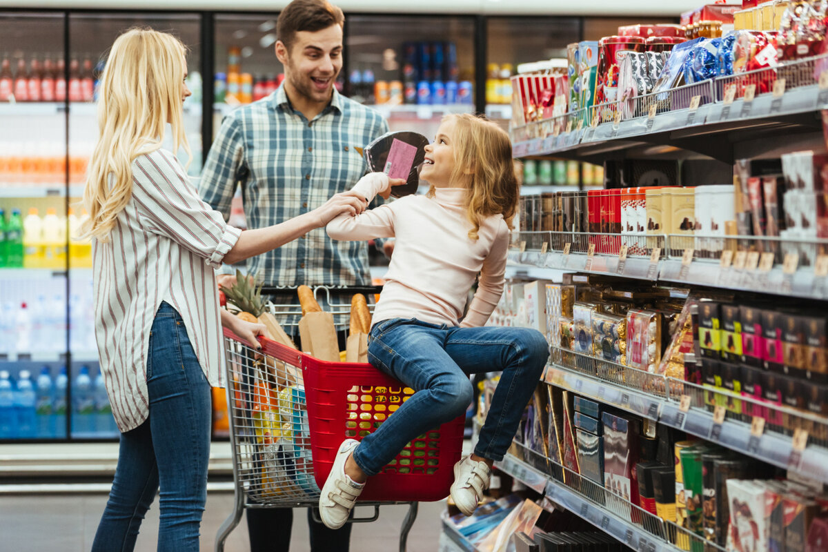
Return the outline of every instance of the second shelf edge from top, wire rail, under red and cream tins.
{"type": "Polygon", "coordinates": [[[756,238],[754,236],[679,236],[649,234],[645,237],[607,233],[570,232],[522,232],[513,238],[513,248],[508,260],[514,266],[532,268],[538,278],[552,278],[558,271],[589,272],[607,276],[621,276],[647,281],[663,281],[671,284],[713,286],[721,289],[753,291],[801,297],[803,299],[828,300],[828,276],[816,271],[820,257],[828,252],[828,240],[782,240],[781,238],[756,238]],[[628,243],[628,251],[634,244],[643,254],[628,252],[622,263],[619,249],[628,243]],[[699,242],[720,242],[718,251],[705,246],[693,249],[699,242]],[[570,252],[565,253],[566,244],[570,252]],[[544,247],[546,244],[546,247],[544,247]],[[590,257],[590,244],[595,253],[590,257]],[[730,251],[729,262],[722,262],[724,247],[730,251]],[[652,258],[652,248],[659,247],[657,260],[652,258]],[[542,252],[546,249],[546,252],[542,252]],[[686,250],[692,257],[684,259],[686,250]],[[707,250],[706,257],[702,251],[707,250]],[[768,265],[762,262],[751,265],[750,256],[758,261],[762,253],[773,253],[768,265]],[[787,257],[796,261],[794,270],[786,269],[787,257]],[[742,262],[739,262],[742,257],[742,262]],[[590,260],[591,259],[591,260],[590,260]],[[546,271],[555,272],[546,272],[546,271]]]}

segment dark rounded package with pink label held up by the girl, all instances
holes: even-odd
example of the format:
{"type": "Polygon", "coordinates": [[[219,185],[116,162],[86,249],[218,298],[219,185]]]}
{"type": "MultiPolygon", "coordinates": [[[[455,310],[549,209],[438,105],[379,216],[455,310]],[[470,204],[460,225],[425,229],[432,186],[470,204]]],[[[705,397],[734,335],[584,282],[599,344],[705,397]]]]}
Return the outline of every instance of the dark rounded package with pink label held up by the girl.
{"type": "Polygon", "coordinates": [[[426,157],[428,143],[428,138],[416,132],[387,132],[365,146],[363,153],[374,172],[384,172],[389,178],[406,179],[406,184],[391,189],[391,194],[400,198],[416,193],[420,186],[418,169],[426,157]]]}

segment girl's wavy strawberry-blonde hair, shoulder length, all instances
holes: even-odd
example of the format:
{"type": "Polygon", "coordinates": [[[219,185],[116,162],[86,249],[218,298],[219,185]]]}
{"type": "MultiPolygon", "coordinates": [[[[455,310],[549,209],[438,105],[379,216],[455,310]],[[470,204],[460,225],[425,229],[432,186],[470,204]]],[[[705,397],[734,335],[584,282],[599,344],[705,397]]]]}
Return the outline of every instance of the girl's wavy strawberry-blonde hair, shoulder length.
{"type": "MultiPolygon", "coordinates": [[[[509,228],[517,212],[520,189],[512,160],[512,142],[503,128],[469,113],[446,115],[454,121],[452,154],[455,166],[450,179],[466,181],[466,218],[472,223],[469,238],[477,240],[483,219],[503,214],[509,228]]],[[[429,190],[434,195],[434,187],[429,190]]]]}

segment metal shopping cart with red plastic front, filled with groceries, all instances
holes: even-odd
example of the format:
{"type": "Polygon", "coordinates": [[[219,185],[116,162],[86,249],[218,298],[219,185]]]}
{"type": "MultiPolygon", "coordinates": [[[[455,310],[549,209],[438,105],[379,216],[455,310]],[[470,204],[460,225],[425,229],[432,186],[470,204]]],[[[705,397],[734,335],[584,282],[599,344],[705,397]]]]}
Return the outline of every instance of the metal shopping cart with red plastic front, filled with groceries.
{"type": "MultiPolygon", "coordinates": [[[[344,319],[350,302],[331,300],[331,291],[341,295],[336,292],[360,290],[314,290],[315,295],[327,295],[327,309],[335,319],[344,319]]],[[[300,305],[270,304],[268,310],[285,319],[288,334],[301,315],[300,305]]],[[[338,324],[338,331],[346,329],[346,323],[338,324]]],[[[224,541],[245,508],[317,506],[320,487],[343,439],[362,439],[372,433],[414,394],[370,364],[323,362],[266,338],[259,341],[261,351],[224,329],[235,500],[233,512],[216,535],[216,552],[224,550],[224,541]]],[[[353,522],[377,520],[380,505],[407,503],[400,533],[404,552],[416,503],[448,495],[454,464],[460,459],[464,422],[460,416],[412,439],[365,487],[359,505],[373,506],[373,516],[354,517],[353,522]]]]}

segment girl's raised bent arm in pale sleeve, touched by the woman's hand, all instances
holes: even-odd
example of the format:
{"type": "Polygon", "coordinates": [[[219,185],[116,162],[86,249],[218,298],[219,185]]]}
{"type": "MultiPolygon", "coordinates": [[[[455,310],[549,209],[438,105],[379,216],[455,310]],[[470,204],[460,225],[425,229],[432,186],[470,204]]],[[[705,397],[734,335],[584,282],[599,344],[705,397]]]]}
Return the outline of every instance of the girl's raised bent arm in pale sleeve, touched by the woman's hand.
{"type": "MultiPolygon", "coordinates": [[[[350,191],[358,194],[360,198],[364,197],[370,204],[376,195],[387,194],[391,190],[391,185],[388,175],[372,172],[359,179],[350,191]]],[[[343,241],[393,238],[394,213],[390,204],[368,209],[356,216],[343,213],[331,220],[326,230],[330,238],[343,241]]]]}

